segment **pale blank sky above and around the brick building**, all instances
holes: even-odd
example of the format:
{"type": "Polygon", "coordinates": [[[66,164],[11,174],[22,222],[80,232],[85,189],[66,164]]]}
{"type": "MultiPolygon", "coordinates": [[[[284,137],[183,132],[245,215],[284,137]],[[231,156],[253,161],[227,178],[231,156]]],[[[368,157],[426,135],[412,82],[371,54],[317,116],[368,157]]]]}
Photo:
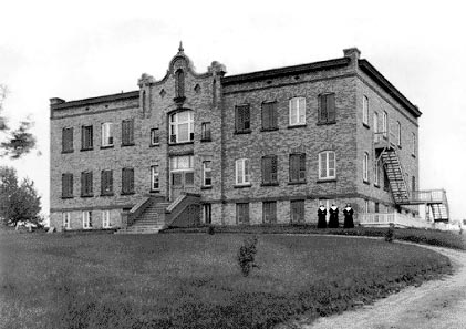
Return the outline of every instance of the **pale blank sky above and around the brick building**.
{"type": "Polygon", "coordinates": [[[162,79],[183,40],[197,72],[227,74],[343,56],[356,47],[418,105],[420,188],[445,188],[466,218],[466,31],[462,1],[0,0],[4,113],[35,122],[38,152],[0,158],[30,177],[49,212],[49,99],[137,90],[162,79]]]}

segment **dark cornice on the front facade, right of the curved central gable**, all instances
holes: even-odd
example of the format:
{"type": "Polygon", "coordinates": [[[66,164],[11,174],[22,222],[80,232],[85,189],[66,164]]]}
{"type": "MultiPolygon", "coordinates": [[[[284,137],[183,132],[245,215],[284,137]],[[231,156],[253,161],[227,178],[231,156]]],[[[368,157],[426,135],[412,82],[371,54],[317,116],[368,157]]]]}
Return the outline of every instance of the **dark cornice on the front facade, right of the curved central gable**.
{"type": "Polygon", "coordinates": [[[299,73],[307,73],[312,71],[321,71],[321,70],[330,70],[346,66],[350,63],[349,58],[342,58],[336,60],[328,60],[322,62],[314,62],[309,64],[301,64],[301,65],[293,65],[293,66],[286,66],[280,69],[271,69],[265,71],[257,71],[251,73],[245,74],[237,74],[230,76],[224,76],[221,79],[221,84],[235,84],[235,83],[242,83],[242,82],[251,82],[258,81],[263,79],[272,79],[283,75],[292,75],[299,73]]]}

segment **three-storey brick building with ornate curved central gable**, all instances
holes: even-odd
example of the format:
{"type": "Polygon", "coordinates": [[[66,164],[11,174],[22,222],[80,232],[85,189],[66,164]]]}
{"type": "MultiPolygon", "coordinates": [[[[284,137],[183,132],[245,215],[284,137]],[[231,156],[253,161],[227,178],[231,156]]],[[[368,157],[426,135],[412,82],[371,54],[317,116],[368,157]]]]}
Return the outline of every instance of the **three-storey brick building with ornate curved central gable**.
{"type": "Polygon", "coordinates": [[[137,91],[51,99],[51,226],[314,223],[333,203],[356,222],[415,215],[421,112],[358,49],[343,52],[226,75],[218,62],[196,73],[180,45],[137,91]]]}

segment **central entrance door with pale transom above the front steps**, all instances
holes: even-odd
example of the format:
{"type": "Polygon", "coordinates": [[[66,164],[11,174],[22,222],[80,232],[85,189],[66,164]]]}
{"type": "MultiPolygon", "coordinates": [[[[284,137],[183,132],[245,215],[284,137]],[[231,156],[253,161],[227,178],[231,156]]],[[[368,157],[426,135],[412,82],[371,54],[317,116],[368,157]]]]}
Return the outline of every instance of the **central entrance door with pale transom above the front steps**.
{"type": "Polygon", "coordinates": [[[194,156],[172,156],[169,163],[170,199],[175,201],[182,192],[194,192],[194,156]]]}

